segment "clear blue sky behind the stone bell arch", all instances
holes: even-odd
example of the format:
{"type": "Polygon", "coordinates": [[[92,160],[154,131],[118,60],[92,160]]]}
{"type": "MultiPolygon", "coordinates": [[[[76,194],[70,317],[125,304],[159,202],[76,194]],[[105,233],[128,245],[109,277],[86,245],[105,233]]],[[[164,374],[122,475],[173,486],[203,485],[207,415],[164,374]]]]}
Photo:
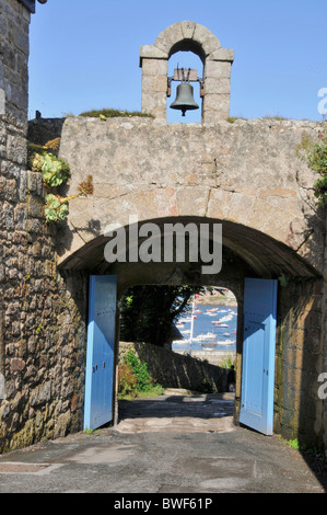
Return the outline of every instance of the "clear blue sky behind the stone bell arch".
{"type": "MultiPolygon", "coordinates": [[[[140,46],[152,45],[163,30],[183,20],[205,25],[222,47],[235,50],[231,116],[322,119],[317,106],[318,91],[327,88],[326,0],[37,2],[30,27],[28,117],[36,110],[44,117],[102,107],[140,111],[140,46]]],[[[201,76],[197,56],[175,54],[170,73],[177,62],[201,76]]],[[[197,111],[186,118],[190,114],[199,116],[197,111]]],[[[179,112],[168,110],[168,116],[182,122],[179,112]]]]}

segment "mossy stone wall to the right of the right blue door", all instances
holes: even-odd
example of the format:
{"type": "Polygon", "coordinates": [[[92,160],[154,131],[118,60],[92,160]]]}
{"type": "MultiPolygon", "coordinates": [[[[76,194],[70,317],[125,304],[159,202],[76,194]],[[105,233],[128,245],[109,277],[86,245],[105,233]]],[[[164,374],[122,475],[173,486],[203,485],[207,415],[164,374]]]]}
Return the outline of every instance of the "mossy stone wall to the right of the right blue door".
{"type": "Polygon", "coordinates": [[[323,279],[296,279],[279,288],[275,431],[312,447],[326,436],[318,398],[326,356],[323,317],[323,279]]]}

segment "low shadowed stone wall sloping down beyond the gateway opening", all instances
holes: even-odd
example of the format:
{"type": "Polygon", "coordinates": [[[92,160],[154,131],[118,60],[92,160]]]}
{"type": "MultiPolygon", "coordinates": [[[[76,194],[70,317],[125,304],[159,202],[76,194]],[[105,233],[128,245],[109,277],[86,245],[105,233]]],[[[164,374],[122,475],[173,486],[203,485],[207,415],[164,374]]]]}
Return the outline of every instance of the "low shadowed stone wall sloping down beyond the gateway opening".
{"type": "Polygon", "coordinates": [[[120,342],[118,359],[121,360],[130,348],[147,363],[150,376],[164,388],[205,391],[206,385],[212,385],[214,392],[227,391],[226,368],[145,343],[120,342]]]}

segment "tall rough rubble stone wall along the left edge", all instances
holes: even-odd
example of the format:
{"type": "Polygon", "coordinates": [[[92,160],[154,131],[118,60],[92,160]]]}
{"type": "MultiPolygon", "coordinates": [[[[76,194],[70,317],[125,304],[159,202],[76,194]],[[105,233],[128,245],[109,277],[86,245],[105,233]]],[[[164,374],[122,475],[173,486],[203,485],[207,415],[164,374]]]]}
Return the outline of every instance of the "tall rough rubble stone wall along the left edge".
{"type": "Polygon", "coordinates": [[[57,271],[40,174],[27,169],[30,11],[0,0],[0,454],[81,427],[86,285],[57,271]]]}

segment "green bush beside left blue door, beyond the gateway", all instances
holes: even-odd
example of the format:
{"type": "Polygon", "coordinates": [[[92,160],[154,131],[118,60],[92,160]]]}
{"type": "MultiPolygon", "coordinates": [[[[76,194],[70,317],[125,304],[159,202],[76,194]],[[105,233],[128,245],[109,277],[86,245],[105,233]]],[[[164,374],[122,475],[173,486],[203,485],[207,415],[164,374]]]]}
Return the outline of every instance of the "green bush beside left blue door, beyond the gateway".
{"type": "Polygon", "coordinates": [[[164,392],[161,385],[148,371],[147,363],[129,350],[118,366],[118,399],[128,400],[135,397],[154,397],[164,392]]]}

